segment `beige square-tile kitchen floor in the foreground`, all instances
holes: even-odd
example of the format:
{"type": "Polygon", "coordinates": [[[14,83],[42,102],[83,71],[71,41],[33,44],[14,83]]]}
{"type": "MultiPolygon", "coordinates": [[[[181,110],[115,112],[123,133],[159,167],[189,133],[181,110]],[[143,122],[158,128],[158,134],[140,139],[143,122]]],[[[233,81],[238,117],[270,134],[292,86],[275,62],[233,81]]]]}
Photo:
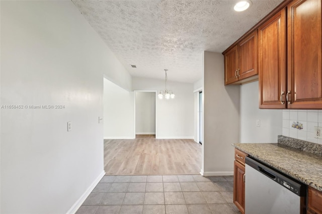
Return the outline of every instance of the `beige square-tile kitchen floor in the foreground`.
{"type": "Polygon", "coordinates": [[[239,213],[232,181],[232,176],[108,175],[76,213],[239,213]]]}

